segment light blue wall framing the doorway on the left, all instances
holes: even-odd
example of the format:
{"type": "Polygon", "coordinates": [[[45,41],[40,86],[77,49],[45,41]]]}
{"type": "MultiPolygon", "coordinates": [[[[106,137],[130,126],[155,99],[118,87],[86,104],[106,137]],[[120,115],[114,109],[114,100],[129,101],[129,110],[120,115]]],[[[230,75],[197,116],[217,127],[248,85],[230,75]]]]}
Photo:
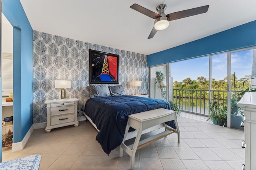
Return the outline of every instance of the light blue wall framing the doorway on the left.
{"type": "Polygon", "coordinates": [[[19,0],[1,0],[2,12],[14,27],[13,96],[14,143],[33,124],[33,30],[19,0]]]}

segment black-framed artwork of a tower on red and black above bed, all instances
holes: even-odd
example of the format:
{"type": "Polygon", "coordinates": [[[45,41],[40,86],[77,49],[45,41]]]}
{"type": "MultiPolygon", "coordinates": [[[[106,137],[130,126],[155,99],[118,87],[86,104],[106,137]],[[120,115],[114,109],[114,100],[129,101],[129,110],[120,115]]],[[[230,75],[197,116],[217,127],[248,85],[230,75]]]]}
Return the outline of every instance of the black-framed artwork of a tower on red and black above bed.
{"type": "Polygon", "coordinates": [[[119,55],[89,49],[89,83],[118,84],[119,55]]]}

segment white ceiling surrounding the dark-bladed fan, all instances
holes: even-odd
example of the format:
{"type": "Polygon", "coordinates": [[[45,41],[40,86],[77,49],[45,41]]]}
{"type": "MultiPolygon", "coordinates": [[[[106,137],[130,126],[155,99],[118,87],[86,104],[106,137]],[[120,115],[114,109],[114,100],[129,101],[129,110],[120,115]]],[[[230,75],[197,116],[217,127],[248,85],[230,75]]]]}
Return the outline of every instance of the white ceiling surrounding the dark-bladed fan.
{"type": "Polygon", "coordinates": [[[165,14],[210,7],[207,13],[170,21],[147,39],[154,20],[130,6],[156,12],[164,1],[20,0],[34,30],[146,55],[256,20],[255,0],[166,0],[165,14]]]}

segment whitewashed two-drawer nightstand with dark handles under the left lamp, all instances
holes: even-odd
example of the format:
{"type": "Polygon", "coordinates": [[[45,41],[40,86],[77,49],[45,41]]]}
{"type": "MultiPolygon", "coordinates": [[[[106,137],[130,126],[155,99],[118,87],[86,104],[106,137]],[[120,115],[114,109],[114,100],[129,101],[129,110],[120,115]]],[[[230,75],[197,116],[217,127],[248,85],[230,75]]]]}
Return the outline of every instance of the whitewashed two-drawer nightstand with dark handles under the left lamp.
{"type": "Polygon", "coordinates": [[[78,99],[46,100],[47,126],[45,131],[49,133],[52,129],[68,125],[78,126],[77,104],[78,99]]]}

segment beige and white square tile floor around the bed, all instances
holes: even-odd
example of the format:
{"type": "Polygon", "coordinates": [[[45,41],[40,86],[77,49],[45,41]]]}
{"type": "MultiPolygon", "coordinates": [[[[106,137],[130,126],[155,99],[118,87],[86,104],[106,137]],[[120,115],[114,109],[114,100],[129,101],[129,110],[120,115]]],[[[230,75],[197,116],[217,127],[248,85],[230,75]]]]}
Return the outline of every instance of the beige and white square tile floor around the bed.
{"type": "MultiPolygon", "coordinates": [[[[206,123],[206,117],[182,113],[178,116],[181,142],[171,134],[136,152],[135,170],[240,170],[245,152],[244,132],[206,123]]],[[[144,134],[159,133],[161,129],[144,134]]],[[[18,152],[3,149],[2,161],[42,154],[40,170],[128,170],[130,157],[118,149],[108,156],[95,140],[97,132],[89,122],[78,127],[35,129],[18,152]]],[[[128,141],[129,142],[129,141],[128,141]]]]}

